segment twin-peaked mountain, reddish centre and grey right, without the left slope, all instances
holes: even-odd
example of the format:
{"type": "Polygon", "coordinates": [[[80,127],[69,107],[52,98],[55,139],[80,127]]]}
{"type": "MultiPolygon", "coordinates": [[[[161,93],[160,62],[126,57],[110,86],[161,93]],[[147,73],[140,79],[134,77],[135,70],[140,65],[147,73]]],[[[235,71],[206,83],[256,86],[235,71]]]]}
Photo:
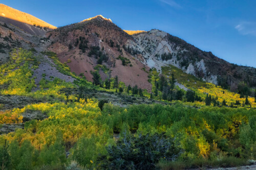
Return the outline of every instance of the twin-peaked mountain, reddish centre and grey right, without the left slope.
{"type": "Polygon", "coordinates": [[[57,53],[61,62],[68,62],[72,71],[84,74],[90,81],[90,71],[98,64],[97,58],[100,59],[100,55],[90,57],[90,53],[92,48],[98,47],[99,52],[108,57],[103,65],[111,70],[109,75],[100,71],[103,80],[118,76],[126,85],[137,84],[151,89],[147,81],[149,68],[161,72],[162,66],[171,64],[187,74],[232,91],[237,91],[241,84],[256,86],[256,69],[253,67],[228,63],[160,30],[121,30],[111,19],[101,15],[50,31],[48,35],[53,42],[48,50],[57,53]],[[131,63],[122,65],[119,56],[131,63]]]}

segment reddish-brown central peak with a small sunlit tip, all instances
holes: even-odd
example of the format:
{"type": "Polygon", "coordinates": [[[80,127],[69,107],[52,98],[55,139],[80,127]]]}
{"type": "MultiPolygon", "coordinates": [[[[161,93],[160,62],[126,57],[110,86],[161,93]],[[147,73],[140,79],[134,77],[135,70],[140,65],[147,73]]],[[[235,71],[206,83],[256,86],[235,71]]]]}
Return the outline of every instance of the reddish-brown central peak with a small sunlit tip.
{"type": "Polygon", "coordinates": [[[147,82],[150,68],[140,61],[142,56],[135,57],[123,48],[127,40],[133,41],[133,37],[111,20],[99,15],[47,35],[52,41],[48,50],[55,52],[61,62],[67,62],[77,75],[82,74],[92,81],[91,71],[100,64],[106,68],[99,70],[102,80],[118,76],[127,86],[151,89],[147,82]]]}

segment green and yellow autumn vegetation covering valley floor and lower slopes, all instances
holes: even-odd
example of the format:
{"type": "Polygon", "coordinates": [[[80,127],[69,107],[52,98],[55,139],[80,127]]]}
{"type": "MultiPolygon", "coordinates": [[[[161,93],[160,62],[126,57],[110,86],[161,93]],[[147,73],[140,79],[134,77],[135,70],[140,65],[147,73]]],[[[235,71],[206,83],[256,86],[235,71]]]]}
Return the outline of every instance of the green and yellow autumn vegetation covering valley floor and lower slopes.
{"type": "MultiPolygon", "coordinates": [[[[182,169],[240,166],[256,159],[253,98],[237,99],[228,90],[169,67],[163,68],[162,75],[151,70],[154,94],[137,85],[125,86],[118,77],[102,82],[97,69],[93,85],[72,74],[56,54],[42,54],[76,80],[46,80],[44,75],[36,85],[33,71],[39,62],[31,51],[22,49],[14,50],[10,61],[0,66],[1,95],[40,99],[25,107],[0,111],[0,124],[24,124],[24,129],[0,136],[3,169],[182,169]],[[190,90],[180,89],[176,81],[190,90]],[[165,100],[166,105],[123,108],[108,100],[89,98],[86,91],[92,89],[113,95],[119,91],[133,95],[131,100],[165,100]],[[218,102],[223,106],[217,107],[218,102]],[[231,108],[231,103],[245,107],[231,108]],[[47,118],[24,123],[23,115],[28,111],[47,118]]],[[[105,69],[100,65],[97,68],[105,69]]]]}

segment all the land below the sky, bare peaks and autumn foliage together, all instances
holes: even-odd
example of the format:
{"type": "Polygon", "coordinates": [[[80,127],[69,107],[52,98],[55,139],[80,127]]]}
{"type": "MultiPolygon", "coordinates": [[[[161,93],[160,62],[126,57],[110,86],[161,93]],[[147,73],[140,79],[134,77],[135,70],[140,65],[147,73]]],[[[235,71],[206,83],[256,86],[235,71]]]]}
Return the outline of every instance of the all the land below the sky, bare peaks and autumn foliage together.
{"type": "Polygon", "coordinates": [[[38,32],[4,21],[2,169],[255,167],[255,68],[101,15],[38,32]]]}

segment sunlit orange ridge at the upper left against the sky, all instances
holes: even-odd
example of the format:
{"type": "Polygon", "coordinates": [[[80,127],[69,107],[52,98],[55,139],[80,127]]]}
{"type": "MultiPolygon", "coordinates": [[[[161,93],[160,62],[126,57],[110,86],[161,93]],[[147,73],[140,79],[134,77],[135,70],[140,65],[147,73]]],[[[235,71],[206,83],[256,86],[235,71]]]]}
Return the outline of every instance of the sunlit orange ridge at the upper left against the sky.
{"type": "Polygon", "coordinates": [[[55,26],[50,25],[50,23],[47,23],[41,19],[34,17],[33,15],[13,9],[4,4],[0,4],[0,16],[4,17],[4,18],[15,20],[15,21],[27,23],[32,26],[46,27],[49,29],[57,28],[55,26]]]}

